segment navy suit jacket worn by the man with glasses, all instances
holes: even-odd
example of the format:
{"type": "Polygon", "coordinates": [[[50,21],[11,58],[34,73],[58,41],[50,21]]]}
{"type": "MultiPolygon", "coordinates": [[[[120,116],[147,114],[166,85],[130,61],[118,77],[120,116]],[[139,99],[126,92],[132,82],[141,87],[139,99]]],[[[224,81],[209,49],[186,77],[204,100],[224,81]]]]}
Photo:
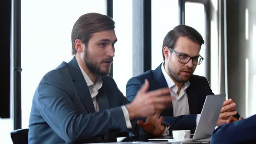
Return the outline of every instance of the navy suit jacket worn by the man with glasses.
{"type": "MultiPolygon", "coordinates": [[[[126,97],[132,101],[144,84],[144,79],[148,79],[150,88],[148,91],[158,88],[168,87],[164,75],[161,71],[161,65],[155,70],[149,70],[141,75],[131,78],[126,85],[126,97]]],[[[171,125],[172,130],[190,130],[194,132],[196,129],[197,114],[200,114],[207,95],[213,95],[209,82],[205,77],[192,75],[189,80],[190,86],[186,89],[190,115],[173,116],[173,108],[165,109],[161,115],[164,121],[171,125]]]]}

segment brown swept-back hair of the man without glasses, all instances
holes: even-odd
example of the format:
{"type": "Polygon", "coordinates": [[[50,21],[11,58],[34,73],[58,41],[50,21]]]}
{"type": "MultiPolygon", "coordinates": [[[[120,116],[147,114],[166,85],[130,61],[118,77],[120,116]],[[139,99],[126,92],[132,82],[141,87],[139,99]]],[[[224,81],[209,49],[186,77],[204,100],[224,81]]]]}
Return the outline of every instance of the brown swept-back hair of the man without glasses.
{"type": "Polygon", "coordinates": [[[76,54],[75,39],[80,39],[87,46],[92,33],[115,29],[114,20],[100,13],[86,13],[75,22],[72,34],[72,55],[76,54]]]}

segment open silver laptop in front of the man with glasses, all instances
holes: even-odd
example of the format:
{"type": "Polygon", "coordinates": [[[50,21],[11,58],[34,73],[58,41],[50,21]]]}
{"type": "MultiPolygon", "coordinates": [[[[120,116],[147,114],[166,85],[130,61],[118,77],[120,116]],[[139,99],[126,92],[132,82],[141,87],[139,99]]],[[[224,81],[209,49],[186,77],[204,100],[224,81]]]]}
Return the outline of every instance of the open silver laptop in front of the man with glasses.
{"type": "MultiPolygon", "coordinates": [[[[197,124],[196,131],[194,135],[192,135],[193,138],[190,138],[181,142],[190,142],[194,140],[208,138],[212,135],[217,125],[217,121],[220,115],[220,110],[222,108],[225,97],[226,97],[226,94],[207,95],[203,104],[203,109],[197,124]]],[[[174,141],[172,136],[157,137],[157,138],[152,138],[148,140],[177,142],[177,141],[174,141]]]]}

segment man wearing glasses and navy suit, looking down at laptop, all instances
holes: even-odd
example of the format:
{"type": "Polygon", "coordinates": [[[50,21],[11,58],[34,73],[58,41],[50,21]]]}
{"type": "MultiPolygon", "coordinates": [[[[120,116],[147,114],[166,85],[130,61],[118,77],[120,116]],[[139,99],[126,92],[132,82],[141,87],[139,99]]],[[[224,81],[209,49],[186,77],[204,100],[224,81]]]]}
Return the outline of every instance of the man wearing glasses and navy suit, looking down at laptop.
{"type": "MultiPolygon", "coordinates": [[[[171,130],[195,131],[200,113],[207,95],[213,95],[205,77],[193,75],[197,65],[203,61],[199,52],[204,43],[196,29],[179,25],[174,27],[164,38],[162,54],[164,62],[157,69],[149,70],[131,78],[126,85],[126,95],[132,101],[144,79],[150,82],[149,91],[168,87],[172,95],[172,107],[162,111],[164,121],[170,124],[171,130]]],[[[224,101],[217,125],[235,121],[233,111],[236,104],[231,100],[224,101]]]]}

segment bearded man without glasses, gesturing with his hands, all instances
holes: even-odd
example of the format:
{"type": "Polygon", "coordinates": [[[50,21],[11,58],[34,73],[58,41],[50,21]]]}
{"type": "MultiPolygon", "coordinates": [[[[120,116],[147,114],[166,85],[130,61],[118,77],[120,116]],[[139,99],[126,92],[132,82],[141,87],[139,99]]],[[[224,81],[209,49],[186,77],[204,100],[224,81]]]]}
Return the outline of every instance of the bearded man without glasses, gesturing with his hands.
{"type": "Polygon", "coordinates": [[[115,22],[99,13],[87,13],[75,22],[71,36],[75,56],[44,75],[36,88],[29,144],[116,141],[122,131],[163,133],[163,117],[156,111],[170,106],[168,88],[147,92],[145,81],[130,103],[108,76],[117,41],[114,28],[115,22]],[[145,117],[146,122],[138,121],[145,117]]]}

